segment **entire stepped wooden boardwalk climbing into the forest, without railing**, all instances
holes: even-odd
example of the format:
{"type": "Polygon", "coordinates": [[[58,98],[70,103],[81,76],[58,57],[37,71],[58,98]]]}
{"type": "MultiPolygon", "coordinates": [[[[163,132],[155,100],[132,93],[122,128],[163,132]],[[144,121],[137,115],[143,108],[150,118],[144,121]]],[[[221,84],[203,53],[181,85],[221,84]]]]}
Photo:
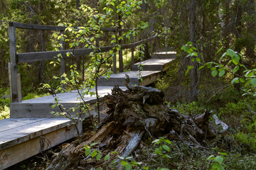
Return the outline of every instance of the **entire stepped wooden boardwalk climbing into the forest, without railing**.
{"type": "MultiPolygon", "coordinates": [[[[134,84],[146,86],[153,83],[161,76],[161,72],[167,69],[167,64],[174,60],[175,55],[176,52],[156,52],[152,56],[154,59],[134,64],[131,72],[112,74],[110,79],[100,77],[98,81],[100,101],[111,93],[114,85],[126,89],[124,74],[128,74],[134,84]],[[138,64],[143,64],[144,71],[137,71],[138,64]],[[138,81],[139,76],[142,76],[143,81],[138,81]]],[[[57,96],[62,99],[60,103],[65,108],[73,108],[81,103],[75,91],[57,96]]],[[[95,96],[84,97],[91,106],[95,104],[95,96]]],[[[78,135],[71,120],[56,118],[50,113],[50,111],[58,111],[58,108],[51,107],[54,103],[53,96],[11,103],[11,118],[0,120],[0,170],[78,135]]],[[[95,113],[93,109],[91,112],[95,113]]],[[[86,116],[83,115],[82,118],[86,116]]],[[[78,124],[78,129],[81,133],[82,123],[78,124]]]]}

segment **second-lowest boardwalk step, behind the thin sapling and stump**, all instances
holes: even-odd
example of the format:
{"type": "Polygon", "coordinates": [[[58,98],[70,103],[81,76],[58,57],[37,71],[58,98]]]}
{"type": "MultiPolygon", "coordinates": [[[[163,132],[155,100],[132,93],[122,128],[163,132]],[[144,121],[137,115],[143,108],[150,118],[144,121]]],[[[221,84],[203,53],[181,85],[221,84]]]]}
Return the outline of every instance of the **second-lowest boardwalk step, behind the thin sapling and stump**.
{"type": "MultiPolygon", "coordinates": [[[[98,94],[100,95],[100,101],[103,100],[104,96],[108,93],[111,94],[112,86],[98,86],[98,94]]],[[[120,87],[125,90],[126,87],[120,87]]],[[[94,91],[94,90],[92,90],[94,91]]],[[[74,108],[77,107],[82,101],[79,99],[77,91],[71,91],[70,93],[57,94],[58,98],[62,101],[59,103],[63,104],[64,108],[74,108]]],[[[94,105],[97,101],[96,96],[84,96],[85,102],[90,104],[92,110],[91,114],[95,114],[94,105]]],[[[56,118],[50,112],[60,112],[58,107],[52,108],[52,105],[55,103],[53,96],[43,96],[40,98],[33,98],[21,103],[11,103],[10,112],[11,118],[56,118]]],[[[100,109],[103,110],[104,105],[100,105],[100,109]]],[[[70,112],[71,115],[75,115],[77,112],[70,112]]],[[[60,115],[59,117],[63,117],[60,115]]],[[[82,118],[86,118],[86,114],[81,115],[82,118]]]]}

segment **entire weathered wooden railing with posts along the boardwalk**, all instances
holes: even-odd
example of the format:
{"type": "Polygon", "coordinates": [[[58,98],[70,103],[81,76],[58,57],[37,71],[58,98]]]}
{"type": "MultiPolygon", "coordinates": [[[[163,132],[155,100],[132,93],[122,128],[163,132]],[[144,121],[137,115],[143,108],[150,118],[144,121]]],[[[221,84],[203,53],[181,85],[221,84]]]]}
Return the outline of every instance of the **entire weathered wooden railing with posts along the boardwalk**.
{"type": "MultiPolygon", "coordinates": [[[[60,51],[43,51],[43,52],[24,52],[24,53],[17,53],[16,50],[16,28],[23,28],[23,29],[32,29],[32,30],[57,30],[61,31],[62,33],[65,30],[63,26],[42,26],[36,24],[27,24],[27,23],[9,23],[9,41],[10,41],[10,58],[11,62],[9,63],[9,81],[10,81],[10,92],[11,92],[11,102],[21,102],[21,75],[18,73],[18,63],[23,62],[37,62],[37,61],[44,61],[44,60],[53,60],[58,54],[61,54],[63,58],[67,57],[67,52],[73,52],[75,57],[82,56],[82,55],[90,55],[90,52],[94,50],[92,48],[85,48],[85,49],[75,49],[73,50],[64,50],[61,48],[60,51]]],[[[78,28],[78,27],[77,27],[78,28]]],[[[114,29],[114,28],[100,28],[102,31],[109,31],[109,32],[122,32],[122,31],[129,31],[129,29],[114,29]]],[[[151,38],[147,38],[145,40],[139,40],[134,42],[134,38],[131,38],[131,43],[129,44],[122,44],[121,45],[121,54],[122,50],[130,48],[132,51],[132,64],[134,64],[134,48],[142,43],[149,42],[154,40],[157,35],[152,36],[151,38]]],[[[60,40],[60,43],[64,47],[64,42],[60,40]]],[[[100,52],[108,52],[112,50],[114,45],[105,46],[105,47],[98,47],[97,50],[100,52]]],[[[119,53],[120,54],[120,53],[119,53]]],[[[65,62],[62,59],[60,61],[60,74],[65,72],[65,62]]],[[[113,58],[113,72],[116,72],[116,58],[113,58]]]]}

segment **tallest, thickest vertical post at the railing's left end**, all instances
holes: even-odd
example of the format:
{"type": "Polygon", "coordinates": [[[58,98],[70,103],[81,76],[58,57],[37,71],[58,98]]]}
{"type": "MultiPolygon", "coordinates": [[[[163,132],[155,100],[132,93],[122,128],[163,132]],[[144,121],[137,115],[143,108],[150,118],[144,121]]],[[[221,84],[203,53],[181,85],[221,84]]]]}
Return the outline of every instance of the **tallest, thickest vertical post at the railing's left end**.
{"type": "Polygon", "coordinates": [[[16,32],[13,23],[9,23],[9,41],[10,41],[10,71],[11,71],[11,103],[18,102],[17,77],[18,67],[16,63],[16,32]]]}

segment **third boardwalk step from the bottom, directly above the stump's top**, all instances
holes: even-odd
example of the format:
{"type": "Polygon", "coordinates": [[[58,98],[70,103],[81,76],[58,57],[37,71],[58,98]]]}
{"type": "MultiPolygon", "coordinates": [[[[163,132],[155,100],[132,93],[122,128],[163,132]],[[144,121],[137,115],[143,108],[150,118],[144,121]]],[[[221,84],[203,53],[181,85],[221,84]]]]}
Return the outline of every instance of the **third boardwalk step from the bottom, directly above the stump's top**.
{"type": "Polygon", "coordinates": [[[98,84],[100,86],[125,86],[125,74],[129,75],[130,82],[132,84],[137,84],[139,86],[146,86],[161,76],[161,71],[142,71],[140,74],[142,75],[143,81],[139,81],[139,72],[131,71],[131,72],[122,72],[117,74],[112,74],[110,79],[106,79],[105,77],[100,77],[98,80],[98,84]]]}

